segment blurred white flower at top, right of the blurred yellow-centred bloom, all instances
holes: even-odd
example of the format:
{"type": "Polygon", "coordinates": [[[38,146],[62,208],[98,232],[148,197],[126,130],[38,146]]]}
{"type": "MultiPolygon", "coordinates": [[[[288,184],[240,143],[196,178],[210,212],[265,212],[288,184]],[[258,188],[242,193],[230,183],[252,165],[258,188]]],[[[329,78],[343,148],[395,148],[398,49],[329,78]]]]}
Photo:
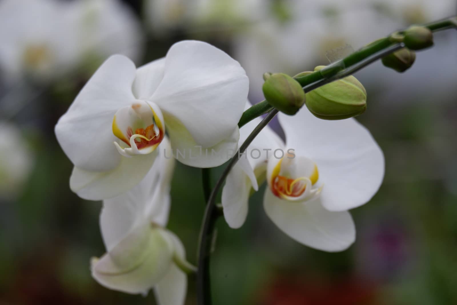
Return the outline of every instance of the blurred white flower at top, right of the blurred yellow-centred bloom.
{"type": "Polygon", "coordinates": [[[80,55],[101,60],[123,54],[134,62],[143,53],[144,37],[138,18],[120,0],[76,0],[65,8],[80,55]]]}

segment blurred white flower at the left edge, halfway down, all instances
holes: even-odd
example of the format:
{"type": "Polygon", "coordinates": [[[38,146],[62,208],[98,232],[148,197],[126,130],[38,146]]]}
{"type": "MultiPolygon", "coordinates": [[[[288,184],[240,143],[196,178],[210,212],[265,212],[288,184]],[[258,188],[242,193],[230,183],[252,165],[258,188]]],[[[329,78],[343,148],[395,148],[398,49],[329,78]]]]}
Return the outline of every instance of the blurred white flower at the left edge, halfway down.
{"type": "Polygon", "coordinates": [[[0,121],[0,198],[12,198],[33,166],[33,155],[14,125],[0,121]]]}

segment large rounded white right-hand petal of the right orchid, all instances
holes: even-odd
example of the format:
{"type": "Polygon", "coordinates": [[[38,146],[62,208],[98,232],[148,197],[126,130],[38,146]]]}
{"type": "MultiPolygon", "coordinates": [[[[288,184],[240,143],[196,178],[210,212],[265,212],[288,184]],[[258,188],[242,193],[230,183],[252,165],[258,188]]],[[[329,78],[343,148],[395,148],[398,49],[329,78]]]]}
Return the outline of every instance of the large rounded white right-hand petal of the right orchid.
{"type": "Polygon", "coordinates": [[[326,209],[352,209],[377,192],[384,177],[383,152],[355,119],[322,120],[302,109],[295,116],[280,113],[279,121],[287,145],[318,166],[326,209]]]}

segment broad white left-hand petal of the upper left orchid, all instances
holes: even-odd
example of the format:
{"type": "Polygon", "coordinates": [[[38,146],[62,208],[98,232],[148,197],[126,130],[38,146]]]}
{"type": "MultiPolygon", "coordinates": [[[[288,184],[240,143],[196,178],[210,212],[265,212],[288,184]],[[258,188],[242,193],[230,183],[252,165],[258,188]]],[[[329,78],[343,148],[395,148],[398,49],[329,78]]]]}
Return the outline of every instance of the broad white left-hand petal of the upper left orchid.
{"type": "Polygon", "coordinates": [[[114,55],[90,78],[55,127],[57,140],[74,166],[85,171],[109,171],[121,156],[112,142],[112,119],[117,109],[134,101],[135,65],[114,55]]]}

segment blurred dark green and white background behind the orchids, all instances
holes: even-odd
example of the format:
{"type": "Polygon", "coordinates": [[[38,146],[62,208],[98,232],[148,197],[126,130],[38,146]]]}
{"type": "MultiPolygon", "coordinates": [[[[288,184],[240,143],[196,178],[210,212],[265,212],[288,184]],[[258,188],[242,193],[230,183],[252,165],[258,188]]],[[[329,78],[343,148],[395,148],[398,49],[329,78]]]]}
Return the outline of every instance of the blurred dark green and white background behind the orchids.
{"type": "MultiPolygon", "coordinates": [[[[207,41],[242,64],[256,103],[266,71],[313,70],[326,51],[456,14],[455,0],[0,0],[0,305],[155,304],[91,278],[101,204],[70,191],[53,133],[109,55],[141,65],[179,40],[207,41]]],[[[377,62],[355,76],[368,92],[357,119],[386,158],[379,193],[351,211],[355,244],[326,253],[292,241],[259,192],[241,229],[218,222],[214,304],[457,304],[457,31],[436,33],[404,74],[377,62]]],[[[200,170],[179,164],[171,195],[169,228],[195,263],[200,170]]],[[[196,304],[192,276],[188,290],[196,304]]]]}

